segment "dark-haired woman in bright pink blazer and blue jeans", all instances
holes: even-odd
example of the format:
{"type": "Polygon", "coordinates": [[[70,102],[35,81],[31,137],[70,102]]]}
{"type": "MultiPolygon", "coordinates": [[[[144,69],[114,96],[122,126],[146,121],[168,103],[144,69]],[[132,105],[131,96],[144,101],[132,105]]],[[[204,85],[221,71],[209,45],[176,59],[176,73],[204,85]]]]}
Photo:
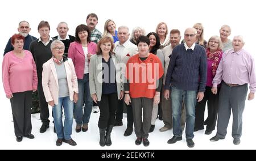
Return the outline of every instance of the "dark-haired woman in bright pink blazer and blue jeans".
{"type": "Polygon", "coordinates": [[[86,132],[92,113],[93,100],[89,88],[89,62],[90,57],[96,54],[97,44],[90,41],[90,28],[84,24],[76,27],[76,40],[68,49],[68,57],[72,59],[79,86],[79,100],[75,104],[76,132],[86,132]],[[82,104],[84,104],[84,113],[82,104]]]}

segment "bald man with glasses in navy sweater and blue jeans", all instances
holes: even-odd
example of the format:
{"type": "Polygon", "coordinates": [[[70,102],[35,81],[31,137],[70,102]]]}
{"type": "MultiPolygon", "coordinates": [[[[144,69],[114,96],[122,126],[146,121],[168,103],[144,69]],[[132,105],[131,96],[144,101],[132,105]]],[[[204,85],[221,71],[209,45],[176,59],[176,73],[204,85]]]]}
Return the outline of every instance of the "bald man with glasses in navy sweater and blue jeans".
{"type": "Polygon", "coordinates": [[[207,57],[205,49],[195,44],[196,29],[185,30],[185,43],[177,45],[170,57],[170,62],[164,86],[164,98],[168,99],[171,90],[172,119],[174,136],[167,143],[175,143],[182,140],[181,129],[181,104],[184,99],[187,112],[186,117],[186,141],[188,147],[194,147],[193,131],[195,125],[196,101],[204,98],[207,81],[207,57]]]}

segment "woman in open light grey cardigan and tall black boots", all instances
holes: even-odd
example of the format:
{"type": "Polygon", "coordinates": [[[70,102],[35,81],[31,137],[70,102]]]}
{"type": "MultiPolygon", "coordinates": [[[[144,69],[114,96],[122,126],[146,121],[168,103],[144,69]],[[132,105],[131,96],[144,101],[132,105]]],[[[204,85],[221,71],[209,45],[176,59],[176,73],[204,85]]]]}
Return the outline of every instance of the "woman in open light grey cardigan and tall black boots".
{"type": "Polygon", "coordinates": [[[122,72],[113,49],[112,37],[102,37],[98,42],[97,55],[90,60],[90,94],[100,108],[100,146],[112,145],[110,134],[115,124],[115,111],[118,100],[123,98],[122,72]]]}

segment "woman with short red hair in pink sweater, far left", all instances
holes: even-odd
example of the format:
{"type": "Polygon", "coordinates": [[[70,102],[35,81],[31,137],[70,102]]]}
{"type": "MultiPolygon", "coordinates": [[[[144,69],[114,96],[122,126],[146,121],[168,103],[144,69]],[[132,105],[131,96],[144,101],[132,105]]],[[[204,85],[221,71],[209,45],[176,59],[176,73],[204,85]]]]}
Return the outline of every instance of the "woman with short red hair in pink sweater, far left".
{"type": "Polygon", "coordinates": [[[34,139],[30,109],[32,91],[38,88],[38,75],[31,52],[23,50],[24,37],[14,34],[11,45],[14,50],[3,57],[2,79],[6,98],[11,101],[16,141],[21,142],[23,137],[34,139]]]}

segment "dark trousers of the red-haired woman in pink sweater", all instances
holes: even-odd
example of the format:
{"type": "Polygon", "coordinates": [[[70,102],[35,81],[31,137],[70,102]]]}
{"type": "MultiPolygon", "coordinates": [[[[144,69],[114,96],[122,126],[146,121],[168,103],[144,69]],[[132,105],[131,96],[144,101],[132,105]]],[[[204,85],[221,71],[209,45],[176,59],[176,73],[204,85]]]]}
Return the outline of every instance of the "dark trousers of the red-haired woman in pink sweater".
{"type": "Polygon", "coordinates": [[[31,134],[32,91],[13,93],[10,101],[16,137],[31,134]]]}

